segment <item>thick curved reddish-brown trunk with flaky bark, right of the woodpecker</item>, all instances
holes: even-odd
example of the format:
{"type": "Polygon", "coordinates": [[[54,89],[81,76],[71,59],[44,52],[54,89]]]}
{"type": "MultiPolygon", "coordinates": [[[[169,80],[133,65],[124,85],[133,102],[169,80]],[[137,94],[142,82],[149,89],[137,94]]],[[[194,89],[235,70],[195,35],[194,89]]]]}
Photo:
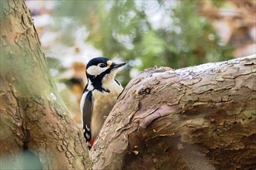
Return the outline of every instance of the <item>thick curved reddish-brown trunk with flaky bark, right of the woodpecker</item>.
{"type": "Polygon", "coordinates": [[[256,56],[154,68],[126,86],[93,169],[255,169],[256,56]]]}

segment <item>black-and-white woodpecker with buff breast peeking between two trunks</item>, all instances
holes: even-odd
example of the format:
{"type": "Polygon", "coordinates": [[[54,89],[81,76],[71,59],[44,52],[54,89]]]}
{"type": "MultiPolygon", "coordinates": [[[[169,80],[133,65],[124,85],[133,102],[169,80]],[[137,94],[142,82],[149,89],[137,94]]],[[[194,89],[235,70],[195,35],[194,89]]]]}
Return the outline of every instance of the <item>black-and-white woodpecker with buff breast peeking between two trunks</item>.
{"type": "Polygon", "coordinates": [[[105,57],[91,59],[85,70],[87,84],[81,96],[80,109],[86,145],[92,148],[106,117],[123,91],[115,80],[117,69],[126,63],[113,63],[105,57]]]}

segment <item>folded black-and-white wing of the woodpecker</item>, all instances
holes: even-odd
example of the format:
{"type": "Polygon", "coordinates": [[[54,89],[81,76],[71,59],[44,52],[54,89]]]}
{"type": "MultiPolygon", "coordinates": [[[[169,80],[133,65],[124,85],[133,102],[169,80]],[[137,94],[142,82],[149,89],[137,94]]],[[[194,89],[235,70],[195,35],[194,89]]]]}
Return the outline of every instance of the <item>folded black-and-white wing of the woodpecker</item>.
{"type": "Polygon", "coordinates": [[[91,135],[91,120],[92,120],[92,106],[93,106],[93,98],[92,98],[92,91],[86,91],[83,93],[81,97],[81,113],[83,119],[83,129],[84,129],[84,136],[86,139],[86,143],[88,148],[91,148],[92,145],[90,144],[92,135],[91,135]]]}

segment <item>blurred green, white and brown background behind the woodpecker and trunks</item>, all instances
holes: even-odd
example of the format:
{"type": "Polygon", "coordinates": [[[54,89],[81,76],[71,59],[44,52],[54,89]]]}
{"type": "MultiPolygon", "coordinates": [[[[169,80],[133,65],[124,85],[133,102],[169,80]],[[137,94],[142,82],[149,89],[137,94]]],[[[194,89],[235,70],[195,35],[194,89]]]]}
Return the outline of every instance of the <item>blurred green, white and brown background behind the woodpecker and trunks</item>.
{"type": "Polygon", "coordinates": [[[123,86],[152,66],[174,69],[256,53],[256,1],[26,0],[50,72],[81,124],[85,65],[106,56],[128,65],[123,86]]]}

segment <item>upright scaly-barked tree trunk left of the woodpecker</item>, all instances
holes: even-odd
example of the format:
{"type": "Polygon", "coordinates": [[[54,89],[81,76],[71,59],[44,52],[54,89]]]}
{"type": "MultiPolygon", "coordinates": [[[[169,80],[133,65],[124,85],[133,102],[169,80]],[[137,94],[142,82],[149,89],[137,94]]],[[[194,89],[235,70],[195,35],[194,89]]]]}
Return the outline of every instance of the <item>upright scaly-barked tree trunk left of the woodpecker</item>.
{"type": "Polygon", "coordinates": [[[29,9],[8,0],[0,12],[1,168],[24,168],[24,151],[43,169],[89,168],[84,138],[58,97],[29,9]]]}

